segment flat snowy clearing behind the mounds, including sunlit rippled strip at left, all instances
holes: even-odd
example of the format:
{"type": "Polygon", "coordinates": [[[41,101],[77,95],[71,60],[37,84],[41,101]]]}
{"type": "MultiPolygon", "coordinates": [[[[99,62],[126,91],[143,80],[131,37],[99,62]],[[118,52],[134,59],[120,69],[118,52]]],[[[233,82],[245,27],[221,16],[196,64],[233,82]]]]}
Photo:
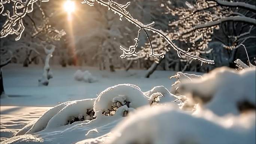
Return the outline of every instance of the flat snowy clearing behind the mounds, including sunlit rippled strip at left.
{"type": "Polygon", "coordinates": [[[1,98],[1,141],[12,137],[19,129],[39,118],[46,110],[61,102],[96,98],[97,94],[114,85],[130,83],[148,91],[154,86],[169,88],[174,72],[155,71],[150,79],[144,78],[144,70],[117,70],[114,73],[94,67],[52,66],[53,79],[48,86],[38,86],[43,67],[9,64],[3,69],[4,90],[8,98],[1,98]],[[97,78],[95,83],[78,82],[77,70],[89,70],[97,78]]]}

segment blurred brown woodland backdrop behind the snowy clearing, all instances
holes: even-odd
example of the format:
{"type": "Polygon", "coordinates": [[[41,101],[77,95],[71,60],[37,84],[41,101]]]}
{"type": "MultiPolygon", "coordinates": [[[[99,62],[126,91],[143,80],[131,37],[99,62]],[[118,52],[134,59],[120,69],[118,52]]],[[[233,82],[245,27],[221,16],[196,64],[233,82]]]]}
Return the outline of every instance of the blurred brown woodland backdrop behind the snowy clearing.
{"type": "MultiPolygon", "coordinates": [[[[126,3],[128,0],[118,1],[126,3]]],[[[240,44],[246,45],[250,60],[255,57],[255,1],[239,0],[130,0],[131,15],[143,24],[155,21],[155,28],[168,33],[173,42],[190,53],[215,61],[214,65],[178,57],[177,52],[159,36],[150,33],[156,53],[164,58],[149,57],[151,45],[141,34],[136,58],[121,59],[119,46],[133,45],[137,28],[125,19],[95,4],[90,7],[76,0],[76,9],[70,15],[64,12],[65,0],[50,0],[34,4],[34,11],[24,19],[25,30],[19,41],[15,36],[1,38],[1,53],[10,50],[13,63],[24,67],[31,63],[43,64],[45,56],[42,41],[55,45],[51,64],[88,65],[100,70],[115,71],[149,69],[207,72],[215,67],[235,67],[239,58],[246,63],[246,53],[240,44]],[[243,4],[240,4],[243,3],[243,4]],[[248,20],[249,19],[249,20],[248,20]],[[215,22],[213,24],[213,22],[215,22]],[[207,25],[205,25],[207,23],[207,25]],[[60,38],[64,30],[66,35],[60,38]]],[[[9,7],[10,8],[10,7],[9,7]]],[[[1,16],[1,28],[6,19],[1,16]]]]}

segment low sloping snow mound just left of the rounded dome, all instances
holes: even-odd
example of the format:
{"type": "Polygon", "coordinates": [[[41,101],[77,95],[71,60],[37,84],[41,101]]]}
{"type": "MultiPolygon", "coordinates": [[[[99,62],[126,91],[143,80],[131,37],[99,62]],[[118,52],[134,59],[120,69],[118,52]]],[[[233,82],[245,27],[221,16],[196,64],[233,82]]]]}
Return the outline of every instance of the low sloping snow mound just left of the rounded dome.
{"type": "Polygon", "coordinates": [[[94,101],[95,99],[83,99],[59,104],[46,111],[36,122],[26,125],[18,131],[15,136],[33,134],[42,131],[43,129],[64,126],[68,123],[68,120],[71,121],[74,117],[84,116],[85,120],[91,120],[92,116],[86,117],[86,110],[93,109],[94,101]]]}

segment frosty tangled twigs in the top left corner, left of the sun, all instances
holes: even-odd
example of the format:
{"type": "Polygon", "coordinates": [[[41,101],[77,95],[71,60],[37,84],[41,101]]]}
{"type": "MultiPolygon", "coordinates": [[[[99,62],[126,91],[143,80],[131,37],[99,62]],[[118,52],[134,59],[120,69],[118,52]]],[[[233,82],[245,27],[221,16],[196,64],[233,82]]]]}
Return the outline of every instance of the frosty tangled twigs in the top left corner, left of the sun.
{"type": "Polygon", "coordinates": [[[36,37],[40,33],[49,35],[48,38],[59,40],[62,36],[65,35],[63,30],[58,31],[54,27],[51,27],[49,24],[49,18],[45,16],[41,6],[38,2],[46,2],[49,0],[1,0],[0,2],[0,14],[1,18],[6,19],[5,23],[1,27],[0,38],[15,34],[17,37],[15,40],[21,39],[22,33],[25,30],[24,26],[24,17],[27,16],[32,24],[35,33],[31,36],[32,38],[36,37]],[[11,11],[7,9],[7,5],[13,4],[11,11]],[[39,26],[36,26],[36,22],[33,18],[30,17],[29,13],[34,11],[34,5],[42,13],[42,21],[39,26]],[[5,10],[6,9],[6,10],[5,10]]]}

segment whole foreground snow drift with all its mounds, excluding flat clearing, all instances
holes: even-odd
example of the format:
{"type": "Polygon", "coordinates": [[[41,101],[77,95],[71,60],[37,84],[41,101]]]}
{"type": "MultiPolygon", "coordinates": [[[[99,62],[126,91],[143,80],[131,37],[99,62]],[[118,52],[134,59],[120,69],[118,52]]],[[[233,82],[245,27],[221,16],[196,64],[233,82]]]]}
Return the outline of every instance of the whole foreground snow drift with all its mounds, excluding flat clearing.
{"type": "Polygon", "coordinates": [[[116,85],[96,99],[57,105],[3,144],[29,135],[38,137],[26,142],[40,138],[45,144],[255,143],[255,74],[255,68],[225,67],[202,77],[180,73],[186,80],[179,82],[179,96],[163,86],[142,92],[135,85],[116,85]],[[114,113],[107,115],[110,110],[114,113]]]}

